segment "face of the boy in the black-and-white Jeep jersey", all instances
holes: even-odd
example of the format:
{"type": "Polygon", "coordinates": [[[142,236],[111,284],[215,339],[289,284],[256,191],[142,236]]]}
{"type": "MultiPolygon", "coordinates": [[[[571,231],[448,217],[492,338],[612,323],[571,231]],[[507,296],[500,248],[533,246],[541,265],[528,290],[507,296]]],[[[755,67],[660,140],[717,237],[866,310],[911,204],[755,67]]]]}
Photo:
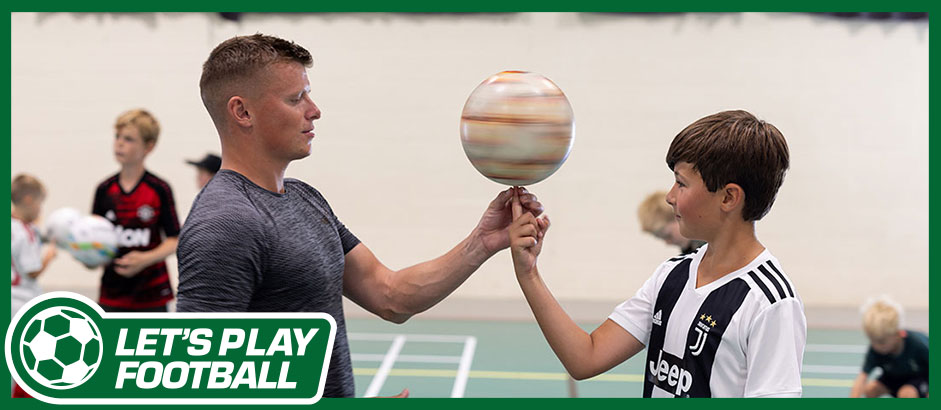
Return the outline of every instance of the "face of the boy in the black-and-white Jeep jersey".
{"type": "Polygon", "coordinates": [[[667,203],[680,227],[680,235],[709,241],[720,221],[721,190],[709,192],[699,171],[688,162],[673,167],[675,182],[667,193],[667,203]]]}

